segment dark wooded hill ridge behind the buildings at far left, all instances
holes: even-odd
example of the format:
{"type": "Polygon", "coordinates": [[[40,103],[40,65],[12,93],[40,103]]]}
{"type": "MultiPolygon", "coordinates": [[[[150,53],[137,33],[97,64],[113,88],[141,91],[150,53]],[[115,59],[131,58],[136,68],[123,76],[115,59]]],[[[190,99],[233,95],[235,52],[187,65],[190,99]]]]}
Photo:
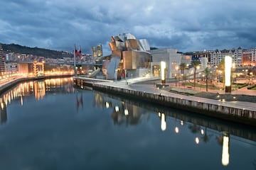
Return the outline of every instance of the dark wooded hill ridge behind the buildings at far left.
{"type": "Polygon", "coordinates": [[[26,47],[16,44],[2,44],[0,43],[2,49],[6,52],[16,52],[20,54],[26,55],[36,55],[38,57],[46,57],[46,58],[63,58],[63,57],[73,57],[70,52],[56,51],[56,50],[48,50],[44,48],[38,47],[26,47]]]}

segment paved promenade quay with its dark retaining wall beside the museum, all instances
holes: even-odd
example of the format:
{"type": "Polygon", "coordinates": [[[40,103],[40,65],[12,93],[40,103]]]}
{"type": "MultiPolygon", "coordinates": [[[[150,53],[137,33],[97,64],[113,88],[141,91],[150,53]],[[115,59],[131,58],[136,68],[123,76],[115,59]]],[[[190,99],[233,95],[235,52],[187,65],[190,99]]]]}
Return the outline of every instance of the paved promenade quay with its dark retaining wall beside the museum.
{"type": "Polygon", "coordinates": [[[136,84],[138,81],[157,80],[159,78],[134,78],[122,81],[87,79],[74,77],[74,85],[81,89],[90,87],[97,91],[125,96],[156,103],[161,106],[179,108],[213,118],[228,120],[243,125],[256,126],[256,103],[243,101],[217,101],[209,98],[176,94],[156,88],[154,84],[136,84]]]}

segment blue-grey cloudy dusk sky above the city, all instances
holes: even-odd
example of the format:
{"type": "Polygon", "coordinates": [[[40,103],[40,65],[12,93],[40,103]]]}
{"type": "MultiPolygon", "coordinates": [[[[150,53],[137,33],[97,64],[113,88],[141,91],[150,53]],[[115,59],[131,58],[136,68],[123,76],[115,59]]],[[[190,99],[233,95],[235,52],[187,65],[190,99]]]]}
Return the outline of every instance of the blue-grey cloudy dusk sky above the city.
{"type": "Polygon", "coordinates": [[[82,52],[132,33],[181,52],[256,47],[255,0],[1,0],[0,42],[82,52]]]}

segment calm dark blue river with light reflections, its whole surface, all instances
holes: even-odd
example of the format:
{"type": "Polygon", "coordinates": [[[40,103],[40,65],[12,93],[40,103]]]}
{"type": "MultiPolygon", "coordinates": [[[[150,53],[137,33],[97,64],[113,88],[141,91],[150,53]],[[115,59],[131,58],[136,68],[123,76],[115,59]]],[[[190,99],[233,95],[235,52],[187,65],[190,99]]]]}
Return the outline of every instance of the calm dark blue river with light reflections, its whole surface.
{"type": "Polygon", "coordinates": [[[1,95],[0,169],[256,169],[256,132],[130,101],[72,78],[1,95]]]}

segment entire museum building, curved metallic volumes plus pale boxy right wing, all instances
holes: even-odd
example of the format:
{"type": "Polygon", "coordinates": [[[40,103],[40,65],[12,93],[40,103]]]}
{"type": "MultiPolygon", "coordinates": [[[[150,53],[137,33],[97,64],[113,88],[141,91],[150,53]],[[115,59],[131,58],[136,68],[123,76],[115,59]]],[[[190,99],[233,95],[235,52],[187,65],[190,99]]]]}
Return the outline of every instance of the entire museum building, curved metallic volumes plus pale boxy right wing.
{"type": "Polygon", "coordinates": [[[161,62],[166,63],[165,75],[170,79],[178,73],[181,62],[191,62],[191,57],[176,49],[151,50],[148,40],[138,40],[131,33],[112,36],[109,45],[112,53],[102,64],[107,79],[161,77],[161,62]]]}

